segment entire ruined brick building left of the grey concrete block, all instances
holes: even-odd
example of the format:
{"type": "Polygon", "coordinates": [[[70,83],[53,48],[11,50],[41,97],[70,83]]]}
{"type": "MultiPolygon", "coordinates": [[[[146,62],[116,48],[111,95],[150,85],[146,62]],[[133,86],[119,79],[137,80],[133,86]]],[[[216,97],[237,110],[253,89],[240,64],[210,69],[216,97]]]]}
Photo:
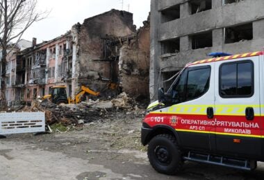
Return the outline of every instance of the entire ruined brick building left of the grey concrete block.
{"type": "Polygon", "coordinates": [[[74,96],[81,86],[114,96],[149,96],[149,21],[135,30],[133,14],[110,10],[75,24],[65,35],[16,51],[7,100],[31,101],[53,86],[74,96]]]}

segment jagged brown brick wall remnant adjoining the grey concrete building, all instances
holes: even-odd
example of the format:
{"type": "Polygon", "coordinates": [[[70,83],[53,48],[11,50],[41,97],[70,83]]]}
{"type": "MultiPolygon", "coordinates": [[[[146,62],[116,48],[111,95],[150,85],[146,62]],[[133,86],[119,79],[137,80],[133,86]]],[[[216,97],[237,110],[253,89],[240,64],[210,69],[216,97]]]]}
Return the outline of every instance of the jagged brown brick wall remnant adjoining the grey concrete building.
{"type": "Polygon", "coordinates": [[[119,80],[130,96],[149,96],[149,20],[120,49],[119,80]]]}

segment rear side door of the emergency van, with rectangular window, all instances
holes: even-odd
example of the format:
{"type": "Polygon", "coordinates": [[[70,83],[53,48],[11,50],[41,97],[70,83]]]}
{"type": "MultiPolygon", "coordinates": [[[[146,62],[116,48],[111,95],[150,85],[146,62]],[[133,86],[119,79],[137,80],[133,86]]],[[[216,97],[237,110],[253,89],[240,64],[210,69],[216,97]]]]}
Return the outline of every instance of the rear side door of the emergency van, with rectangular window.
{"type": "Polygon", "coordinates": [[[215,62],[217,152],[242,158],[261,155],[259,79],[258,56],[215,62]]]}

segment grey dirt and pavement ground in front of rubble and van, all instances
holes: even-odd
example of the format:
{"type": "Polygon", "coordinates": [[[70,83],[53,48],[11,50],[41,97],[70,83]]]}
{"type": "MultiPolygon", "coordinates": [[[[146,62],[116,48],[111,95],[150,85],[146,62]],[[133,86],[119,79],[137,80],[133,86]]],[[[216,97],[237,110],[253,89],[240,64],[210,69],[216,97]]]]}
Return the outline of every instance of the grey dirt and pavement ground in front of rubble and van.
{"type": "Polygon", "coordinates": [[[113,112],[68,132],[0,139],[0,179],[264,179],[254,172],[186,162],[183,172],[155,172],[140,143],[144,113],[113,112]]]}

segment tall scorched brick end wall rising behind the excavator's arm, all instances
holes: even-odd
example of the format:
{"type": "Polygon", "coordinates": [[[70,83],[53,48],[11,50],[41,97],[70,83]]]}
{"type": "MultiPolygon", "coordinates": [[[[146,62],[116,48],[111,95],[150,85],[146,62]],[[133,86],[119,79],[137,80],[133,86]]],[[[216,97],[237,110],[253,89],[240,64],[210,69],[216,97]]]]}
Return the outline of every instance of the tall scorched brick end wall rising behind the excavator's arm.
{"type": "Polygon", "coordinates": [[[76,84],[78,87],[87,85],[96,91],[104,89],[111,81],[113,71],[118,71],[117,63],[112,63],[115,60],[118,62],[118,57],[104,56],[104,38],[134,33],[133,14],[110,10],[85,19],[83,24],[76,24],[72,32],[76,46],[76,84]]]}

